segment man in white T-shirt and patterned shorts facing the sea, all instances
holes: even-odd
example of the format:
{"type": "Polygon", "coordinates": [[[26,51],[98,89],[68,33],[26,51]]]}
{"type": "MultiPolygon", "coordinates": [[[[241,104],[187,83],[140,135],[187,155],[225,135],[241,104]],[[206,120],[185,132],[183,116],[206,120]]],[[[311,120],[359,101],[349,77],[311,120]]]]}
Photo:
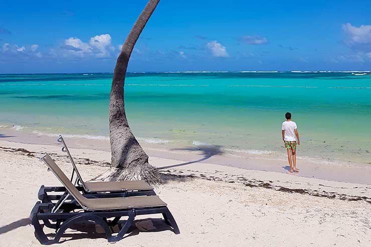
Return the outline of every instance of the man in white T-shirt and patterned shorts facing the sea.
{"type": "Polygon", "coordinates": [[[291,121],[291,113],[286,112],[286,121],[282,123],[282,140],[285,143],[290,164],[290,172],[299,172],[296,169],[296,142],[300,145],[296,123],[291,121]]]}

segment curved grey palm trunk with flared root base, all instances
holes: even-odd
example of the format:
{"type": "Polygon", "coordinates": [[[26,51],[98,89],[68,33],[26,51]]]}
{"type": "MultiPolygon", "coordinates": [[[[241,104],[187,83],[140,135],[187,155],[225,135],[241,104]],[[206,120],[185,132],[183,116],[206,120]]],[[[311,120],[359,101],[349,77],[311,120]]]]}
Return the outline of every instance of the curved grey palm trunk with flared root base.
{"type": "Polygon", "coordinates": [[[117,58],[109,102],[111,170],[98,177],[101,180],[143,179],[154,185],[161,183],[158,171],[148,163],[148,155],[131,132],[124,107],[124,81],[129,58],[140,33],[158,3],[159,0],[149,0],[127,36],[117,58]]]}

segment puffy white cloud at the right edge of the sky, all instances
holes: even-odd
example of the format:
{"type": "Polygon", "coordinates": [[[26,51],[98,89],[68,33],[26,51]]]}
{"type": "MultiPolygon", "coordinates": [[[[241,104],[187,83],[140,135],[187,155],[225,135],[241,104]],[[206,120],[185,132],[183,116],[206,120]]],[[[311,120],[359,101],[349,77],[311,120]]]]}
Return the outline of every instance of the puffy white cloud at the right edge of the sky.
{"type": "Polygon", "coordinates": [[[342,31],[346,35],[345,44],[358,51],[371,51],[371,26],[361,25],[359,27],[352,26],[350,23],[342,25],[342,31]]]}

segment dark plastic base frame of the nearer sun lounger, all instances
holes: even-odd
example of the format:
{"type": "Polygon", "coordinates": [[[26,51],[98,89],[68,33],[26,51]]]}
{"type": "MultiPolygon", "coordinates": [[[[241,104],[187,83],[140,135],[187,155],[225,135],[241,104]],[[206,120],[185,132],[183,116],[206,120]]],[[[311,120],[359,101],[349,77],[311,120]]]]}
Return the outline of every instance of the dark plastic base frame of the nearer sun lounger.
{"type": "Polygon", "coordinates": [[[42,244],[53,244],[58,243],[63,233],[75,223],[81,221],[93,221],[95,224],[99,224],[104,229],[106,237],[109,242],[116,242],[122,239],[129,227],[133,223],[136,215],[156,214],[161,213],[164,221],[169,225],[175,234],[179,234],[179,228],[175,222],[174,217],[168,210],[167,206],[152,207],[152,208],[131,208],[126,210],[110,210],[110,211],[84,211],[84,212],[71,212],[72,210],[82,209],[81,206],[76,203],[63,203],[60,207],[62,212],[50,212],[53,207],[53,203],[42,203],[38,201],[31,211],[30,219],[35,228],[35,236],[42,244]],[[123,216],[128,216],[126,222],[122,225],[121,230],[117,235],[112,235],[110,226],[119,223],[119,220],[123,216]],[[113,221],[108,221],[107,218],[114,217],[113,221]],[[44,222],[42,226],[40,220],[44,222]],[[55,224],[51,223],[50,220],[56,221],[55,224]],[[48,238],[44,232],[43,227],[56,229],[55,236],[48,238]]]}

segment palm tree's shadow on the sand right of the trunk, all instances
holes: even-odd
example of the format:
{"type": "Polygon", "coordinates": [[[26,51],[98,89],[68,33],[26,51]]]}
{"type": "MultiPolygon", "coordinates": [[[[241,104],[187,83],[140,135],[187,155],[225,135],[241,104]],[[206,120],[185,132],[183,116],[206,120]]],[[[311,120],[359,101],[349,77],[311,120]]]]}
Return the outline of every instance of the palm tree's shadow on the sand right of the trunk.
{"type": "Polygon", "coordinates": [[[202,155],[204,157],[201,158],[201,159],[198,159],[198,160],[194,160],[194,161],[189,161],[189,162],[184,162],[184,163],[180,163],[180,164],[158,167],[157,169],[159,169],[159,170],[160,169],[169,169],[169,168],[173,168],[173,167],[194,164],[194,163],[198,163],[198,162],[207,160],[207,159],[209,159],[209,158],[211,158],[215,155],[222,155],[224,153],[224,151],[222,150],[222,146],[220,146],[220,145],[198,146],[198,147],[189,147],[189,148],[174,148],[174,149],[171,149],[171,150],[182,150],[182,151],[191,151],[191,152],[201,151],[202,155]]]}

